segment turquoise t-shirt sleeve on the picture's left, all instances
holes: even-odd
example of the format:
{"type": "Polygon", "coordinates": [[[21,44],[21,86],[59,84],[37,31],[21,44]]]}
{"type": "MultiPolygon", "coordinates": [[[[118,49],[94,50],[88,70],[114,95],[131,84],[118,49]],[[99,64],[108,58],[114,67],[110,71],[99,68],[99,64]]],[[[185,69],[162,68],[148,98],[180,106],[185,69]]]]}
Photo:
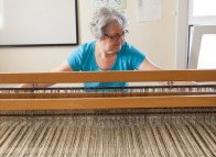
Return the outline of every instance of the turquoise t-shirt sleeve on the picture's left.
{"type": "Polygon", "coordinates": [[[83,67],[82,67],[83,53],[84,53],[84,47],[79,46],[67,58],[67,63],[74,71],[83,70],[83,67]]]}

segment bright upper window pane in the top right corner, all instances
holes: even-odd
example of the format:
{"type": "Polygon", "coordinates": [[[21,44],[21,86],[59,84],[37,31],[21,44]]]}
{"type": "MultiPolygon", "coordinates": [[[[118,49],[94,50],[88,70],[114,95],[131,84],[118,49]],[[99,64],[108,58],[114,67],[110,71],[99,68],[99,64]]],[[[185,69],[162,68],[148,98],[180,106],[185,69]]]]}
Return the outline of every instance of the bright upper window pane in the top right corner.
{"type": "Polygon", "coordinates": [[[194,0],[193,15],[216,15],[216,0],[194,0]]]}

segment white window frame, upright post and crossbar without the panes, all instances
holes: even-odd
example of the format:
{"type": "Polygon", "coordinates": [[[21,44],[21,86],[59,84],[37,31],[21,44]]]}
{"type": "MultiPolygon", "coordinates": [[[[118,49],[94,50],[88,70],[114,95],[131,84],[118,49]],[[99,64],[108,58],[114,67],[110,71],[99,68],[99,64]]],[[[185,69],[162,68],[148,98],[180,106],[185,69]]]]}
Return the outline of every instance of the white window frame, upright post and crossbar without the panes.
{"type": "Polygon", "coordinates": [[[194,0],[177,1],[176,29],[176,69],[187,69],[192,27],[196,25],[216,25],[216,15],[193,16],[194,0]]]}

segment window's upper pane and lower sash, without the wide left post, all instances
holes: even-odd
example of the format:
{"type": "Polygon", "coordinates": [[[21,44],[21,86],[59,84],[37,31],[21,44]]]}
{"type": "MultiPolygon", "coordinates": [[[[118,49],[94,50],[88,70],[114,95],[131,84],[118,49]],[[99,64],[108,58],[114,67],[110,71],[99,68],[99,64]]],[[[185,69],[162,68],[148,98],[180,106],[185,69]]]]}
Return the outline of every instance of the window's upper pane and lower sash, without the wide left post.
{"type": "Polygon", "coordinates": [[[216,1],[191,0],[187,68],[215,69],[216,1]]]}

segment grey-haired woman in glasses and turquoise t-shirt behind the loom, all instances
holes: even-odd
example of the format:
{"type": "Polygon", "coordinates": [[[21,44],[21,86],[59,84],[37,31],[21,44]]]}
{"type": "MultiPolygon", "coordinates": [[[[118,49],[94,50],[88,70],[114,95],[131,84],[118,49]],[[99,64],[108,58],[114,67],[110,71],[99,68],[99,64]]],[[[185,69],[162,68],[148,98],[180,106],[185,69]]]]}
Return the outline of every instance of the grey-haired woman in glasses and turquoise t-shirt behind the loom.
{"type": "MultiPolygon", "coordinates": [[[[127,19],[123,13],[102,7],[94,13],[90,32],[95,41],[80,45],[67,60],[52,71],[158,70],[159,66],[125,41],[127,19]]],[[[37,87],[48,87],[42,83],[37,87]]],[[[127,82],[85,83],[85,87],[123,87],[127,82]]],[[[22,88],[32,85],[21,85],[22,88]]]]}

